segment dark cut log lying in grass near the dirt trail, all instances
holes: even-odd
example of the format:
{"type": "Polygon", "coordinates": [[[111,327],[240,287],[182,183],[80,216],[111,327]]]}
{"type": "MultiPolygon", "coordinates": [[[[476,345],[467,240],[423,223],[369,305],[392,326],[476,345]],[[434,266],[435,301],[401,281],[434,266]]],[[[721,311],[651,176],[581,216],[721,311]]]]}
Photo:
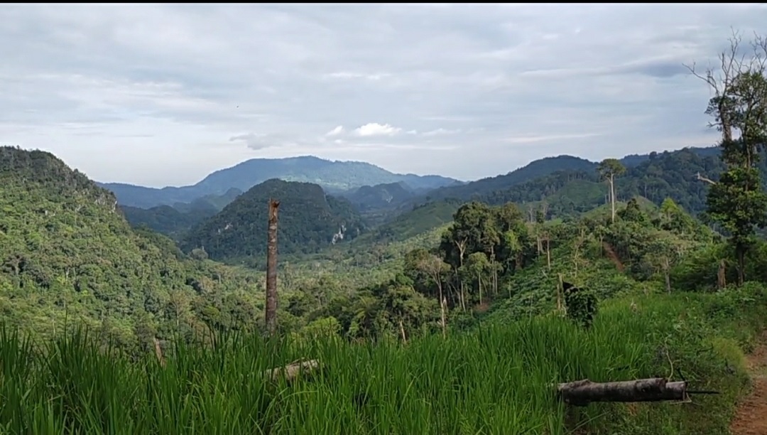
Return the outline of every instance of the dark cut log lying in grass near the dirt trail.
{"type": "Polygon", "coordinates": [[[686,400],[687,383],[668,382],[663,377],[620,382],[566,382],[557,386],[566,404],[586,406],[591,402],[660,402],[686,400]]]}

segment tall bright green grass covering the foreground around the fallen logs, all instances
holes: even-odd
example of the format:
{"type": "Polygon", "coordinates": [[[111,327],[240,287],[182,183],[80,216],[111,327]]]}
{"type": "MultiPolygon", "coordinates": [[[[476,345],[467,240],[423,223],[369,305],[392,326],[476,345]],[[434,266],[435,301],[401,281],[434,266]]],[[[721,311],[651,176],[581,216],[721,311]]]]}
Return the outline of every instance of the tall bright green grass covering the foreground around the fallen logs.
{"type": "Polygon", "coordinates": [[[631,302],[607,302],[591,331],[548,317],[406,346],[232,335],[214,348],[179,345],[166,367],[107,356],[77,332],[41,349],[3,332],[0,433],[727,433],[767,292],[631,302]],[[292,384],[260,375],[298,358],[324,370],[292,384]],[[672,373],[722,394],[568,409],[549,387],[672,373]]]}

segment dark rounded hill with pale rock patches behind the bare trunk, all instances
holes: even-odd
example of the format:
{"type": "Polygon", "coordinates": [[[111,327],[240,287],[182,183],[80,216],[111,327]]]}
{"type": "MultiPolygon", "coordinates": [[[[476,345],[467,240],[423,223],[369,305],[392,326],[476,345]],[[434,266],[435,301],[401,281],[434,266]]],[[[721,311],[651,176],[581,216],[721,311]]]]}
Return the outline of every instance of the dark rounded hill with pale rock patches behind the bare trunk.
{"type": "Polygon", "coordinates": [[[364,230],[346,199],[324,193],[317,184],[267,180],[200,222],[182,240],[189,252],[204,249],[212,259],[231,260],[266,252],[268,200],[280,201],[278,252],[310,253],[364,230]]]}

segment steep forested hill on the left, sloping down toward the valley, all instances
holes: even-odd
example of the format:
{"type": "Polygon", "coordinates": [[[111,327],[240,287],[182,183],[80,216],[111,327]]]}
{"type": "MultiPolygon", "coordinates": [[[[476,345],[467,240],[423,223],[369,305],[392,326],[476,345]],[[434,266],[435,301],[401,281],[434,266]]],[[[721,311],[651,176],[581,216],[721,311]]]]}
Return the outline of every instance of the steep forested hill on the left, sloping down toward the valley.
{"type": "Polygon", "coordinates": [[[201,313],[212,308],[219,322],[232,318],[229,306],[255,315],[245,314],[255,302],[242,298],[244,276],[192,262],[170,239],[134,231],[112,193],[51,153],[0,147],[0,186],[6,325],[51,333],[69,318],[133,346],[137,335],[143,344],[163,337],[170,324],[203,328],[201,313]]]}

